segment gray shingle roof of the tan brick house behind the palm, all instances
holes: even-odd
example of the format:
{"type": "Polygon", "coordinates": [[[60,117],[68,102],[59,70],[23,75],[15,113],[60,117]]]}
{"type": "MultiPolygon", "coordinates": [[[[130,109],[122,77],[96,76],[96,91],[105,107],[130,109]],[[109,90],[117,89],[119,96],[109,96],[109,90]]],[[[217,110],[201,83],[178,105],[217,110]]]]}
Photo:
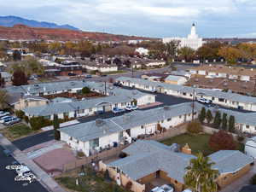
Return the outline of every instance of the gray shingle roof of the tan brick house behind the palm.
{"type": "MultiPolygon", "coordinates": [[[[191,159],[195,159],[192,154],[173,152],[169,146],[152,140],[138,140],[123,152],[129,156],[115,160],[108,166],[118,167],[134,180],[161,170],[166,172],[168,177],[183,183],[186,167],[189,166],[191,159]]],[[[240,151],[222,150],[209,157],[216,163],[212,168],[218,169],[220,173],[237,172],[253,162],[253,158],[240,151]]]]}

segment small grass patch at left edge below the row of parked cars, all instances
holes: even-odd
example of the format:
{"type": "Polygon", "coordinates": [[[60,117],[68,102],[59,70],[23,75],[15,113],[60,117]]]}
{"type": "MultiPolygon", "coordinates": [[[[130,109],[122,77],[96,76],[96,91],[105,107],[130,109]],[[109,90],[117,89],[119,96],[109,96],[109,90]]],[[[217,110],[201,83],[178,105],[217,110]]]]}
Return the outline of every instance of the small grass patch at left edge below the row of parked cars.
{"type": "Polygon", "coordinates": [[[1,131],[3,135],[9,140],[14,141],[17,138],[25,137],[27,135],[30,135],[32,133],[35,133],[36,131],[32,131],[32,129],[25,125],[25,124],[16,124],[9,126],[1,131]]]}

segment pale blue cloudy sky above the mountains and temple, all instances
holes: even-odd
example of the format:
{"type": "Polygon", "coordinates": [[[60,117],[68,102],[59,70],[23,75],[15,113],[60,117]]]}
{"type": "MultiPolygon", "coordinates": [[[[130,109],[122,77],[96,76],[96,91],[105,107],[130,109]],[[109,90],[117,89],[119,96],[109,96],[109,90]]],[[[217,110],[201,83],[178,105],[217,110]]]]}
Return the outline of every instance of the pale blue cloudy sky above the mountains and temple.
{"type": "Polygon", "coordinates": [[[0,15],[69,24],[83,31],[202,38],[256,38],[256,0],[0,0],[0,15]]]}

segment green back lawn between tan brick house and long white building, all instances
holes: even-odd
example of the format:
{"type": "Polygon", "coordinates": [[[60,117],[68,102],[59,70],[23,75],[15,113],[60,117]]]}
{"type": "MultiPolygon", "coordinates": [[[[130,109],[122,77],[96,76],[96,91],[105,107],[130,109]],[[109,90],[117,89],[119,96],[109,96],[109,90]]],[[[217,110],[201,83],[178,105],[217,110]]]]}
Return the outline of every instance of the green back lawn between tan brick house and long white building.
{"type": "MultiPolygon", "coordinates": [[[[161,143],[166,145],[171,145],[172,143],[177,143],[183,147],[186,143],[189,144],[189,147],[192,149],[192,154],[197,154],[202,152],[204,155],[212,154],[214,151],[209,147],[208,141],[211,135],[208,134],[199,134],[199,135],[190,135],[188,133],[168,138],[161,143]]],[[[244,145],[241,143],[237,144],[237,150],[243,151],[244,145]]]]}

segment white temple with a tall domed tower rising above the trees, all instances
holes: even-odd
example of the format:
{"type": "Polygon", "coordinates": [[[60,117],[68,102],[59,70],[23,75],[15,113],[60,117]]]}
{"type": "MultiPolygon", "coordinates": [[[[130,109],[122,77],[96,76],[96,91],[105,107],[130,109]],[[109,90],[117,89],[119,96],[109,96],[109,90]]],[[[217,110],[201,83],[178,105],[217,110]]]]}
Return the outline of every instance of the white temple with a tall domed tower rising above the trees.
{"type": "Polygon", "coordinates": [[[204,43],[202,38],[199,38],[196,34],[195,23],[193,23],[191,32],[187,38],[163,38],[163,43],[166,44],[173,40],[180,41],[179,48],[189,47],[195,50],[200,48],[204,43]]]}

